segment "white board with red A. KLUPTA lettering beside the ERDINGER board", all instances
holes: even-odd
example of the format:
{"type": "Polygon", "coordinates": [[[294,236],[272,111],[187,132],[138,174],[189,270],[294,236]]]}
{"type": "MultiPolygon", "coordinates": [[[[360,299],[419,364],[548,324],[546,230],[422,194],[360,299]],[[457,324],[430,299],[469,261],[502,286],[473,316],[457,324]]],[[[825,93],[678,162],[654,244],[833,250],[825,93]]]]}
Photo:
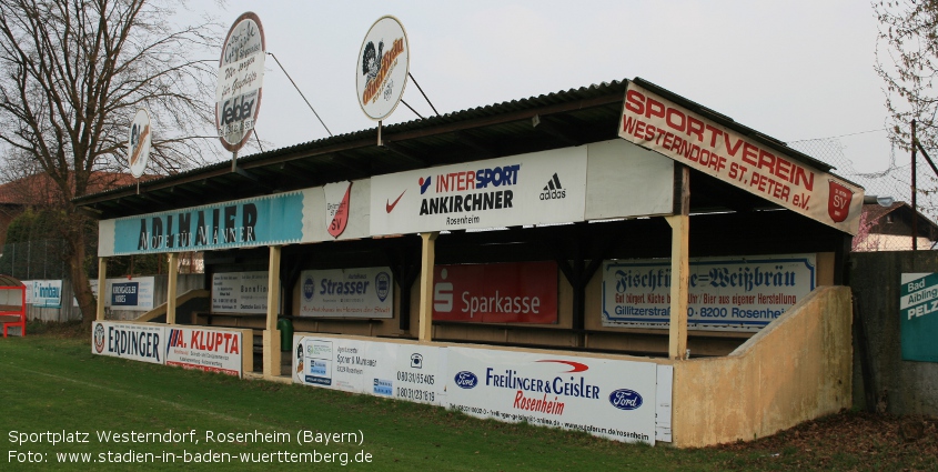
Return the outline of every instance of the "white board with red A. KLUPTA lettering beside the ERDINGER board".
{"type": "Polygon", "coordinates": [[[243,338],[240,331],[167,328],[165,364],[241,376],[243,338]]]}

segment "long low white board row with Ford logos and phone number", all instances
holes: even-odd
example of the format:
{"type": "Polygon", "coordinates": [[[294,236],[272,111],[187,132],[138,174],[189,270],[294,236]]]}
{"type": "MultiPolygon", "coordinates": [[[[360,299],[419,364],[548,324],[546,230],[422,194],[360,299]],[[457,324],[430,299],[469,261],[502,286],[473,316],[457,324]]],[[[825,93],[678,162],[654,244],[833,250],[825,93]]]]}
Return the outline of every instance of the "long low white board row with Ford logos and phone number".
{"type": "Polygon", "coordinates": [[[624,442],[670,440],[669,365],[315,334],[294,334],[293,352],[293,381],[304,385],[624,442]]]}

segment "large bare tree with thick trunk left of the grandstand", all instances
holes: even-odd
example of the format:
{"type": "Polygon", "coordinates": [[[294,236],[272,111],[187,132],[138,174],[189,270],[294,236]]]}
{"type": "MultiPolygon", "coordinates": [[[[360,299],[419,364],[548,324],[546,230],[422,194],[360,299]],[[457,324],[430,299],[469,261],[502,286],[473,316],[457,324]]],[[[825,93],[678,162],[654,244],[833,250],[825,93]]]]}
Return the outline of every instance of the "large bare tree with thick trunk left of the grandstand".
{"type": "Polygon", "coordinates": [[[82,319],[94,319],[84,270],[88,217],[71,200],[125,172],[128,127],[148,109],[151,165],[204,163],[213,131],[220,26],[178,26],[168,0],[0,0],[0,155],[54,182],[57,228],[82,319]],[[206,131],[209,130],[209,131],[206,131]]]}

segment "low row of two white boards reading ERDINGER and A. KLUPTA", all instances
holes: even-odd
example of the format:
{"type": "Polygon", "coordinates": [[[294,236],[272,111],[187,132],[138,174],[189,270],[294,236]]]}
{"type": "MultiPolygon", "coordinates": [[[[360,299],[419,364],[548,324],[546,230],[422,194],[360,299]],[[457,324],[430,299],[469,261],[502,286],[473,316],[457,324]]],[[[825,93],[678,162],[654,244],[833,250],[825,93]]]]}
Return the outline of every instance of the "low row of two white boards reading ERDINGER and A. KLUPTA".
{"type": "Polygon", "coordinates": [[[245,331],[95,321],[91,353],[242,376],[245,331]]]}

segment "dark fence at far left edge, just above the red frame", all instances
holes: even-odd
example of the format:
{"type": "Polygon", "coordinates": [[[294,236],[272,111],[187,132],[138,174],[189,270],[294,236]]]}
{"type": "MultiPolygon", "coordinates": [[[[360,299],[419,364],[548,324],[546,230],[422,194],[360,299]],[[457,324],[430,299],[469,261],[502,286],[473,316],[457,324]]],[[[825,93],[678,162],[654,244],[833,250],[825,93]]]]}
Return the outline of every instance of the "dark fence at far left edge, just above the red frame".
{"type": "Polygon", "coordinates": [[[64,260],[65,242],[46,239],[3,244],[0,273],[20,280],[62,280],[69,268],[64,260]]]}

